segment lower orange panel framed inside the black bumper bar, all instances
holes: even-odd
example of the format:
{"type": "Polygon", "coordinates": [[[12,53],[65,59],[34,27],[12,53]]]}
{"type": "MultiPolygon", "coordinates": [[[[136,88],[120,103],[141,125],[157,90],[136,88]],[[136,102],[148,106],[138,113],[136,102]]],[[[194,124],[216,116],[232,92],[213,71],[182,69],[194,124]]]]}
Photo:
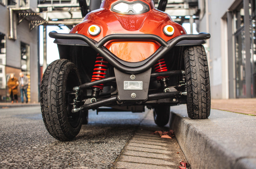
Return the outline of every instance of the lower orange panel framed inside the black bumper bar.
{"type": "Polygon", "coordinates": [[[111,42],[108,50],[127,62],[139,62],[147,59],[159,48],[154,42],[111,42]]]}

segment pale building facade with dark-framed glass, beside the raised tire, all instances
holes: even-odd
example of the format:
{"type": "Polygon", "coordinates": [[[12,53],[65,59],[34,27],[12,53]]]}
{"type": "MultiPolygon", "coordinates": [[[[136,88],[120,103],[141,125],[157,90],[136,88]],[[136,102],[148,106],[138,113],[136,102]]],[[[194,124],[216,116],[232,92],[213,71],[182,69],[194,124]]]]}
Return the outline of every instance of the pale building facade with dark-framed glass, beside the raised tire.
{"type": "Polygon", "coordinates": [[[255,0],[199,0],[212,98],[256,97],[255,0]]]}

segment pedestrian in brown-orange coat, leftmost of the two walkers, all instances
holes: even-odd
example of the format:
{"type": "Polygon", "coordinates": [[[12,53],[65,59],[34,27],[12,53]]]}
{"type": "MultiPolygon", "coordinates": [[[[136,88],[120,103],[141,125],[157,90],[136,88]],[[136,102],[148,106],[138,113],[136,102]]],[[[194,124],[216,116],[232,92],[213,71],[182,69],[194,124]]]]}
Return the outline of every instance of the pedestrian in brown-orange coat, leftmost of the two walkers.
{"type": "Polygon", "coordinates": [[[7,86],[9,88],[9,94],[10,94],[12,103],[13,103],[14,99],[18,103],[19,82],[18,82],[18,79],[16,77],[14,77],[14,74],[10,74],[10,79],[7,82],[7,86]]]}

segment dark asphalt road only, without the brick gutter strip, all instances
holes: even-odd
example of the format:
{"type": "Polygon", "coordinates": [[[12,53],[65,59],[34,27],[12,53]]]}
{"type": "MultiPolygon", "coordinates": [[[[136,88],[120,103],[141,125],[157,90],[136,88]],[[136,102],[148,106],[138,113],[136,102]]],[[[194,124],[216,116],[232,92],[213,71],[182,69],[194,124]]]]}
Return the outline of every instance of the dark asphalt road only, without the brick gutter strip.
{"type": "Polygon", "coordinates": [[[76,139],[60,142],[40,107],[0,109],[0,168],[111,167],[145,114],[91,111],[76,139]]]}

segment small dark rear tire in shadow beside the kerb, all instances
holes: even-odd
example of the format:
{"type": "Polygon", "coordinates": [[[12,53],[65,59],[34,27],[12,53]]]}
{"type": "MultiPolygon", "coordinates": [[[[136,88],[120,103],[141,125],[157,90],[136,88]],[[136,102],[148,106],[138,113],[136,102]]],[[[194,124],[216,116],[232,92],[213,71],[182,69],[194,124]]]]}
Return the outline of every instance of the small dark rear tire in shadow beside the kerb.
{"type": "Polygon", "coordinates": [[[165,126],[170,118],[170,106],[157,106],[153,109],[154,121],[159,127],[165,126]]]}

